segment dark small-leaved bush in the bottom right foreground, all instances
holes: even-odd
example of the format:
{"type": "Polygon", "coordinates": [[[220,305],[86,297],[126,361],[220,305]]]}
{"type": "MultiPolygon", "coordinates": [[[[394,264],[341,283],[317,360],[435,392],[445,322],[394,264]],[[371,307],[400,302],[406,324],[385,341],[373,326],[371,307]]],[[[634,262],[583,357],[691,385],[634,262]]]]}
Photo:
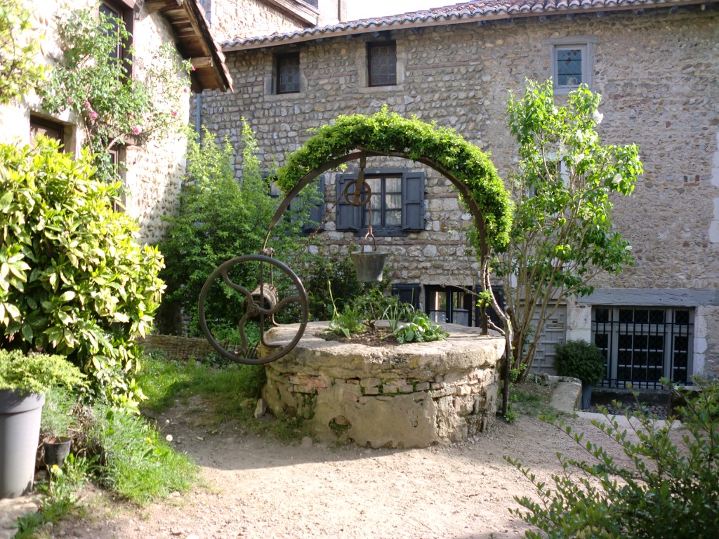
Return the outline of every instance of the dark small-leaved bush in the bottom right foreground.
{"type": "MultiPolygon", "coordinates": [[[[665,383],[669,383],[664,381],[665,383]]],[[[562,472],[553,474],[554,489],[505,457],[536,487],[539,502],[515,498],[526,509],[515,510],[540,532],[527,538],[715,538],[719,530],[719,383],[695,380],[700,391],[674,387],[687,405],[678,422],[658,422],[646,411],[628,413],[631,431],[605,412],[607,422],[593,420],[628,457],[628,464],[605,449],[566,431],[592,461],[561,454],[562,472]],[[636,441],[635,441],[636,440],[636,441]]]]}

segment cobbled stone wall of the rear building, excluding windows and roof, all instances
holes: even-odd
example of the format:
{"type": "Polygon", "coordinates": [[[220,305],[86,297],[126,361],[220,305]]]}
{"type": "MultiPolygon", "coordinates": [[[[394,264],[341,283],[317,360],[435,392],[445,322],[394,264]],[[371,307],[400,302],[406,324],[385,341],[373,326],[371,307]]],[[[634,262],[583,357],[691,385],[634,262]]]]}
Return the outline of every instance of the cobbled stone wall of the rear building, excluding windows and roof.
{"type": "MultiPolygon", "coordinates": [[[[690,370],[719,373],[716,10],[686,6],[482,24],[447,21],[244,48],[227,44],[235,93],[203,94],[201,123],[239,144],[243,116],[257,131],[265,161],[281,165],[287,152],[308,139],[308,129],[340,114],[372,114],[386,103],[399,114],[457,129],[490,152],[500,175],[508,178],[517,159],[505,118],[508,92],[521,95],[526,78],[549,78],[552,47],[568,41],[592,44],[592,89],[603,96],[600,137],[610,144],[639,144],[645,170],[633,195],[614,201],[615,226],[631,242],[636,264],[621,275],[600,277],[597,292],[610,292],[605,305],[627,305],[623,291],[633,290],[639,294],[634,306],[689,308],[694,324],[690,370]],[[385,39],[396,43],[397,84],[368,87],[366,42],[385,39]],[[273,95],[267,78],[275,55],[286,50],[300,52],[301,92],[273,95]],[[672,303],[677,297],[684,299],[672,303]]],[[[378,159],[367,166],[418,167],[378,159]]],[[[449,183],[426,172],[424,231],[378,239],[380,247],[393,252],[395,282],[473,286],[477,271],[464,247],[470,217],[449,183]]],[[[323,243],[346,249],[360,238],[336,231],[334,174],[326,175],[326,185],[330,216],[323,243]]],[[[567,337],[590,338],[588,305],[597,303],[590,297],[567,305],[567,337]]]]}

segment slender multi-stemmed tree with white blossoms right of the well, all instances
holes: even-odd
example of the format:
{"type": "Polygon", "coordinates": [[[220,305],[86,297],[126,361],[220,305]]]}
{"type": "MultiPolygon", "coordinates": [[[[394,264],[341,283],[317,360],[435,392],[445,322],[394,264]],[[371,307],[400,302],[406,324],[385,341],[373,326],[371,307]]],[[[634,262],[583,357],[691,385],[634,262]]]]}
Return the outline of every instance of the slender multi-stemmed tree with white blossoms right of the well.
{"type": "Polygon", "coordinates": [[[600,101],[582,85],[557,106],[551,80],[528,81],[523,98],[510,97],[510,132],[519,144],[510,178],[514,220],[508,247],[490,265],[504,285],[508,367],[520,380],[557,307],[590,294],[600,273],[633,263],[631,246],[613,229],[610,195],[629,195],[642,165],[635,144],[600,143],[600,101]]]}

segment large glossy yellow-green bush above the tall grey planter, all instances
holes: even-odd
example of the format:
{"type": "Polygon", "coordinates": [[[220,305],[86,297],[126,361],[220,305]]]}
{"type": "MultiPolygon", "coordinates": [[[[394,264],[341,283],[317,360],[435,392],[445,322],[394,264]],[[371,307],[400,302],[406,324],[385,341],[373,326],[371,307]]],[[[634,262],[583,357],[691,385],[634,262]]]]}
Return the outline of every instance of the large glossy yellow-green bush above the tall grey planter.
{"type": "Polygon", "coordinates": [[[119,184],[91,156],[0,145],[0,347],[67,356],[116,402],[136,405],[138,349],[152,327],[162,257],[112,209],[119,184]]]}

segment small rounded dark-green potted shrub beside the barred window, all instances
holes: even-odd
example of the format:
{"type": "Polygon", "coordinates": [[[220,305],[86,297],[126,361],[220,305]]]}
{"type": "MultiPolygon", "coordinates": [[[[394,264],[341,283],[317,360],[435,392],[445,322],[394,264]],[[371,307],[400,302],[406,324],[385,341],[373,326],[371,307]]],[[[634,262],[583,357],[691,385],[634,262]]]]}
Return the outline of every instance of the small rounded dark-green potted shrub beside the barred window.
{"type": "Polygon", "coordinates": [[[557,345],[554,368],[559,376],[579,378],[582,382],[582,410],[590,407],[592,388],[606,375],[602,351],[587,341],[567,341],[557,345]]]}

